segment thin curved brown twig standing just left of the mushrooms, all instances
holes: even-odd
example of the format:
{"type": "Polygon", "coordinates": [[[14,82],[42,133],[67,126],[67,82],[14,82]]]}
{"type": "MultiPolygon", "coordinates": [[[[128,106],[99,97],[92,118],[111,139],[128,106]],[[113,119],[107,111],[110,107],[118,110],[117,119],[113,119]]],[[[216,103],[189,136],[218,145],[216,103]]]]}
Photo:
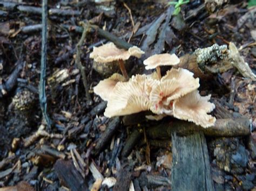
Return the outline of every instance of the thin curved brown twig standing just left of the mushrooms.
{"type": "Polygon", "coordinates": [[[86,74],[85,74],[85,67],[82,65],[81,63],[81,58],[80,58],[80,54],[81,54],[81,46],[83,45],[84,43],[84,39],[86,37],[86,34],[87,34],[87,31],[89,29],[89,24],[85,24],[84,22],[81,22],[82,26],[84,27],[84,31],[83,31],[83,34],[82,34],[82,37],[81,39],[79,40],[78,44],[77,44],[77,55],[76,55],[76,66],[77,68],[80,70],[80,73],[82,75],[82,78],[83,78],[83,84],[84,84],[84,89],[85,89],[85,96],[86,96],[86,100],[89,101],[89,103],[92,102],[91,100],[91,96],[89,94],[89,89],[88,89],[88,86],[87,86],[87,79],[86,79],[86,74]]]}

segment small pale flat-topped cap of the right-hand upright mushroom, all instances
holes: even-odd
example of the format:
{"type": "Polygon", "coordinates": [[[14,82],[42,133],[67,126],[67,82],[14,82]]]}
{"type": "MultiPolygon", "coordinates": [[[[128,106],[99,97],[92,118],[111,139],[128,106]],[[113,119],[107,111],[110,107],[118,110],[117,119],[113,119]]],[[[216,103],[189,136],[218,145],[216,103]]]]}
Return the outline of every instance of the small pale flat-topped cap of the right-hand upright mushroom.
{"type": "Polygon", "coordinates": [[[158,66],[174,66],[179,63],[176,54],[155,54],[143,61],[146,69],[154,69],[158,66]]]}

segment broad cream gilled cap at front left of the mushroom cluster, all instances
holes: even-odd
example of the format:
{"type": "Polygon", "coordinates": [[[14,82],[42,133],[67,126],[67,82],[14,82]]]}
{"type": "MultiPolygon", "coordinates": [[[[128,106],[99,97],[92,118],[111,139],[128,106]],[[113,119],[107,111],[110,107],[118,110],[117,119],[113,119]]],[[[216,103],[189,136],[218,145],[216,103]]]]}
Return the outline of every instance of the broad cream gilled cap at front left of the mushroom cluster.
{"type": "Polygon", "coordinates": [[[136,75],[128,82],[118,82],[107,102],[106,117],[134,114],[149,110],[146,75],[136,75]]]}

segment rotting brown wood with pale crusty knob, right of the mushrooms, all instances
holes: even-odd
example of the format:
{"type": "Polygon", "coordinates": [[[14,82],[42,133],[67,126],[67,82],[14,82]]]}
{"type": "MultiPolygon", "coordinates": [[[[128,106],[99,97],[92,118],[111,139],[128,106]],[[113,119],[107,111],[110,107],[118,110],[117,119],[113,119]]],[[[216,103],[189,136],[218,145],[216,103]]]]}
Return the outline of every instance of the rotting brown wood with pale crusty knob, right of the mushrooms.
{"type": "Polygon", "coordinates": [[[256,80],[255,74],[240,56],[233,43],[230,43],[229,49],[226,45],[219,46],[217,44],[207,48],[198,48],[193,54],[181,56],[180,63],[174,67],[186,68],[200,79],[208,79],[211,74],[224,73],[235,67],[242,76],[256,80]]]}

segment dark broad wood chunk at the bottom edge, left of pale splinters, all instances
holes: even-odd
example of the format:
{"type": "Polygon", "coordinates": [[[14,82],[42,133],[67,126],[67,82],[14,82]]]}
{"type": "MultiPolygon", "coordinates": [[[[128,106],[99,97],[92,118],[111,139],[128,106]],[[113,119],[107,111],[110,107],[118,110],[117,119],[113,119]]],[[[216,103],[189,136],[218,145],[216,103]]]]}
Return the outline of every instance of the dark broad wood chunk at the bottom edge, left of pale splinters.
{"type": "Polygon", "coordinates": [[[86,183],[87,181],[84,180],[83,176],[77,171],[72,160],[65,161],[59,159],[55,163],[54,169],[62,184],[72,191],[89,189],[86,183]]]}

